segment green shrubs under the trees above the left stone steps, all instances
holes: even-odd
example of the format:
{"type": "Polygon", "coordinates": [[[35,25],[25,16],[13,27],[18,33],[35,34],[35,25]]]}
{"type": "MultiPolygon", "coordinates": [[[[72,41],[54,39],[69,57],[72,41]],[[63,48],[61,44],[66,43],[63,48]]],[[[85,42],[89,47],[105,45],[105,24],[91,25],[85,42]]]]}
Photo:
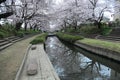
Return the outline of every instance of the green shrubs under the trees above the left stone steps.
{"type": "Polygon", "coordinates": [[[10,36],[18,36],[18,37],[24,37],[24,35],[29,35],[29,34],[36,34],[40,33],[40,31],[34,31],[34,30],[24,30],[21,28],[19,31],[15,30],[15,26],[6,23],[2,26],[0,26],[0,39],[7,38],[10,36]]]}

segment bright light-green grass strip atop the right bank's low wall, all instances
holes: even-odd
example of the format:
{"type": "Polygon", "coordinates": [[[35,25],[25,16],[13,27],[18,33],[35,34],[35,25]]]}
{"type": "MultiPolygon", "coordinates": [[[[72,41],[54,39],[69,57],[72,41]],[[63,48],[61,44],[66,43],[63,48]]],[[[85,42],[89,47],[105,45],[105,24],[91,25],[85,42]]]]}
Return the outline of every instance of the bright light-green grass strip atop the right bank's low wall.
{"type": "Polygon", "coordinates": [[[88,45],[120,52],[120,43],[117,42],[115,43],[110,41],[102,41],[102,40],[88,39],[88,38],[84,38],[83,40],[79,40],[79,41],[88,45]]]}

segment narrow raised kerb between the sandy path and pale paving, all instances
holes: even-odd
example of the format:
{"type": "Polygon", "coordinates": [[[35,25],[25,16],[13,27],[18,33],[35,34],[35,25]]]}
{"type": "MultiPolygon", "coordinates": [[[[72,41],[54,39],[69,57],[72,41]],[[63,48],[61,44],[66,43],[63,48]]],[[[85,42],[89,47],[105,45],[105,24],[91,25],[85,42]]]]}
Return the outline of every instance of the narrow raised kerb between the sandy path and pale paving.
{"type": "Polygon", "coordinates": [[[24,64],[25,64],[25,61],[26,61],[26,58],[27,58],[27,55],[28,55],[28,53],[29,53],[29,50],[30,50],[31,46],[32,46],[32,45],[29,44],[29,46],[28,46],[28,48],[27,48],[27,50],[26,50],[26,52],[25,52],[24,58],[23,58],[23,60],[22,60],[22,63],[21,63],[21,65],[20,65],[20,67],[19,67],[19,69],[18,69],[18,71],[17,71],[16,77],[15,77],[14,80],[19,80],[21,71],[22,71],[22,69],[23,69],[23,67],[24,67],[24,64]]]}

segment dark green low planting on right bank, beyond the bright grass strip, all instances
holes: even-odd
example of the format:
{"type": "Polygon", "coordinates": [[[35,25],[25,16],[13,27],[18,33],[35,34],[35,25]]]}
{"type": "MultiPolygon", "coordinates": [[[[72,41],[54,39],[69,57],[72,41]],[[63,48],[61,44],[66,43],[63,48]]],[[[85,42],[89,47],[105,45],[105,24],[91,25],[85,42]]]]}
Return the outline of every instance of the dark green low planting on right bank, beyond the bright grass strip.
{"type": "Polygon", "coordinates": [[[57,33],[57,36],[60,39],[63,39],[63,40],[69,41],[69,42],[75,42],[77,40],[83,39],[82,36],[75,36],[75,35],[66,34],[66,33],[57,33]]]}

